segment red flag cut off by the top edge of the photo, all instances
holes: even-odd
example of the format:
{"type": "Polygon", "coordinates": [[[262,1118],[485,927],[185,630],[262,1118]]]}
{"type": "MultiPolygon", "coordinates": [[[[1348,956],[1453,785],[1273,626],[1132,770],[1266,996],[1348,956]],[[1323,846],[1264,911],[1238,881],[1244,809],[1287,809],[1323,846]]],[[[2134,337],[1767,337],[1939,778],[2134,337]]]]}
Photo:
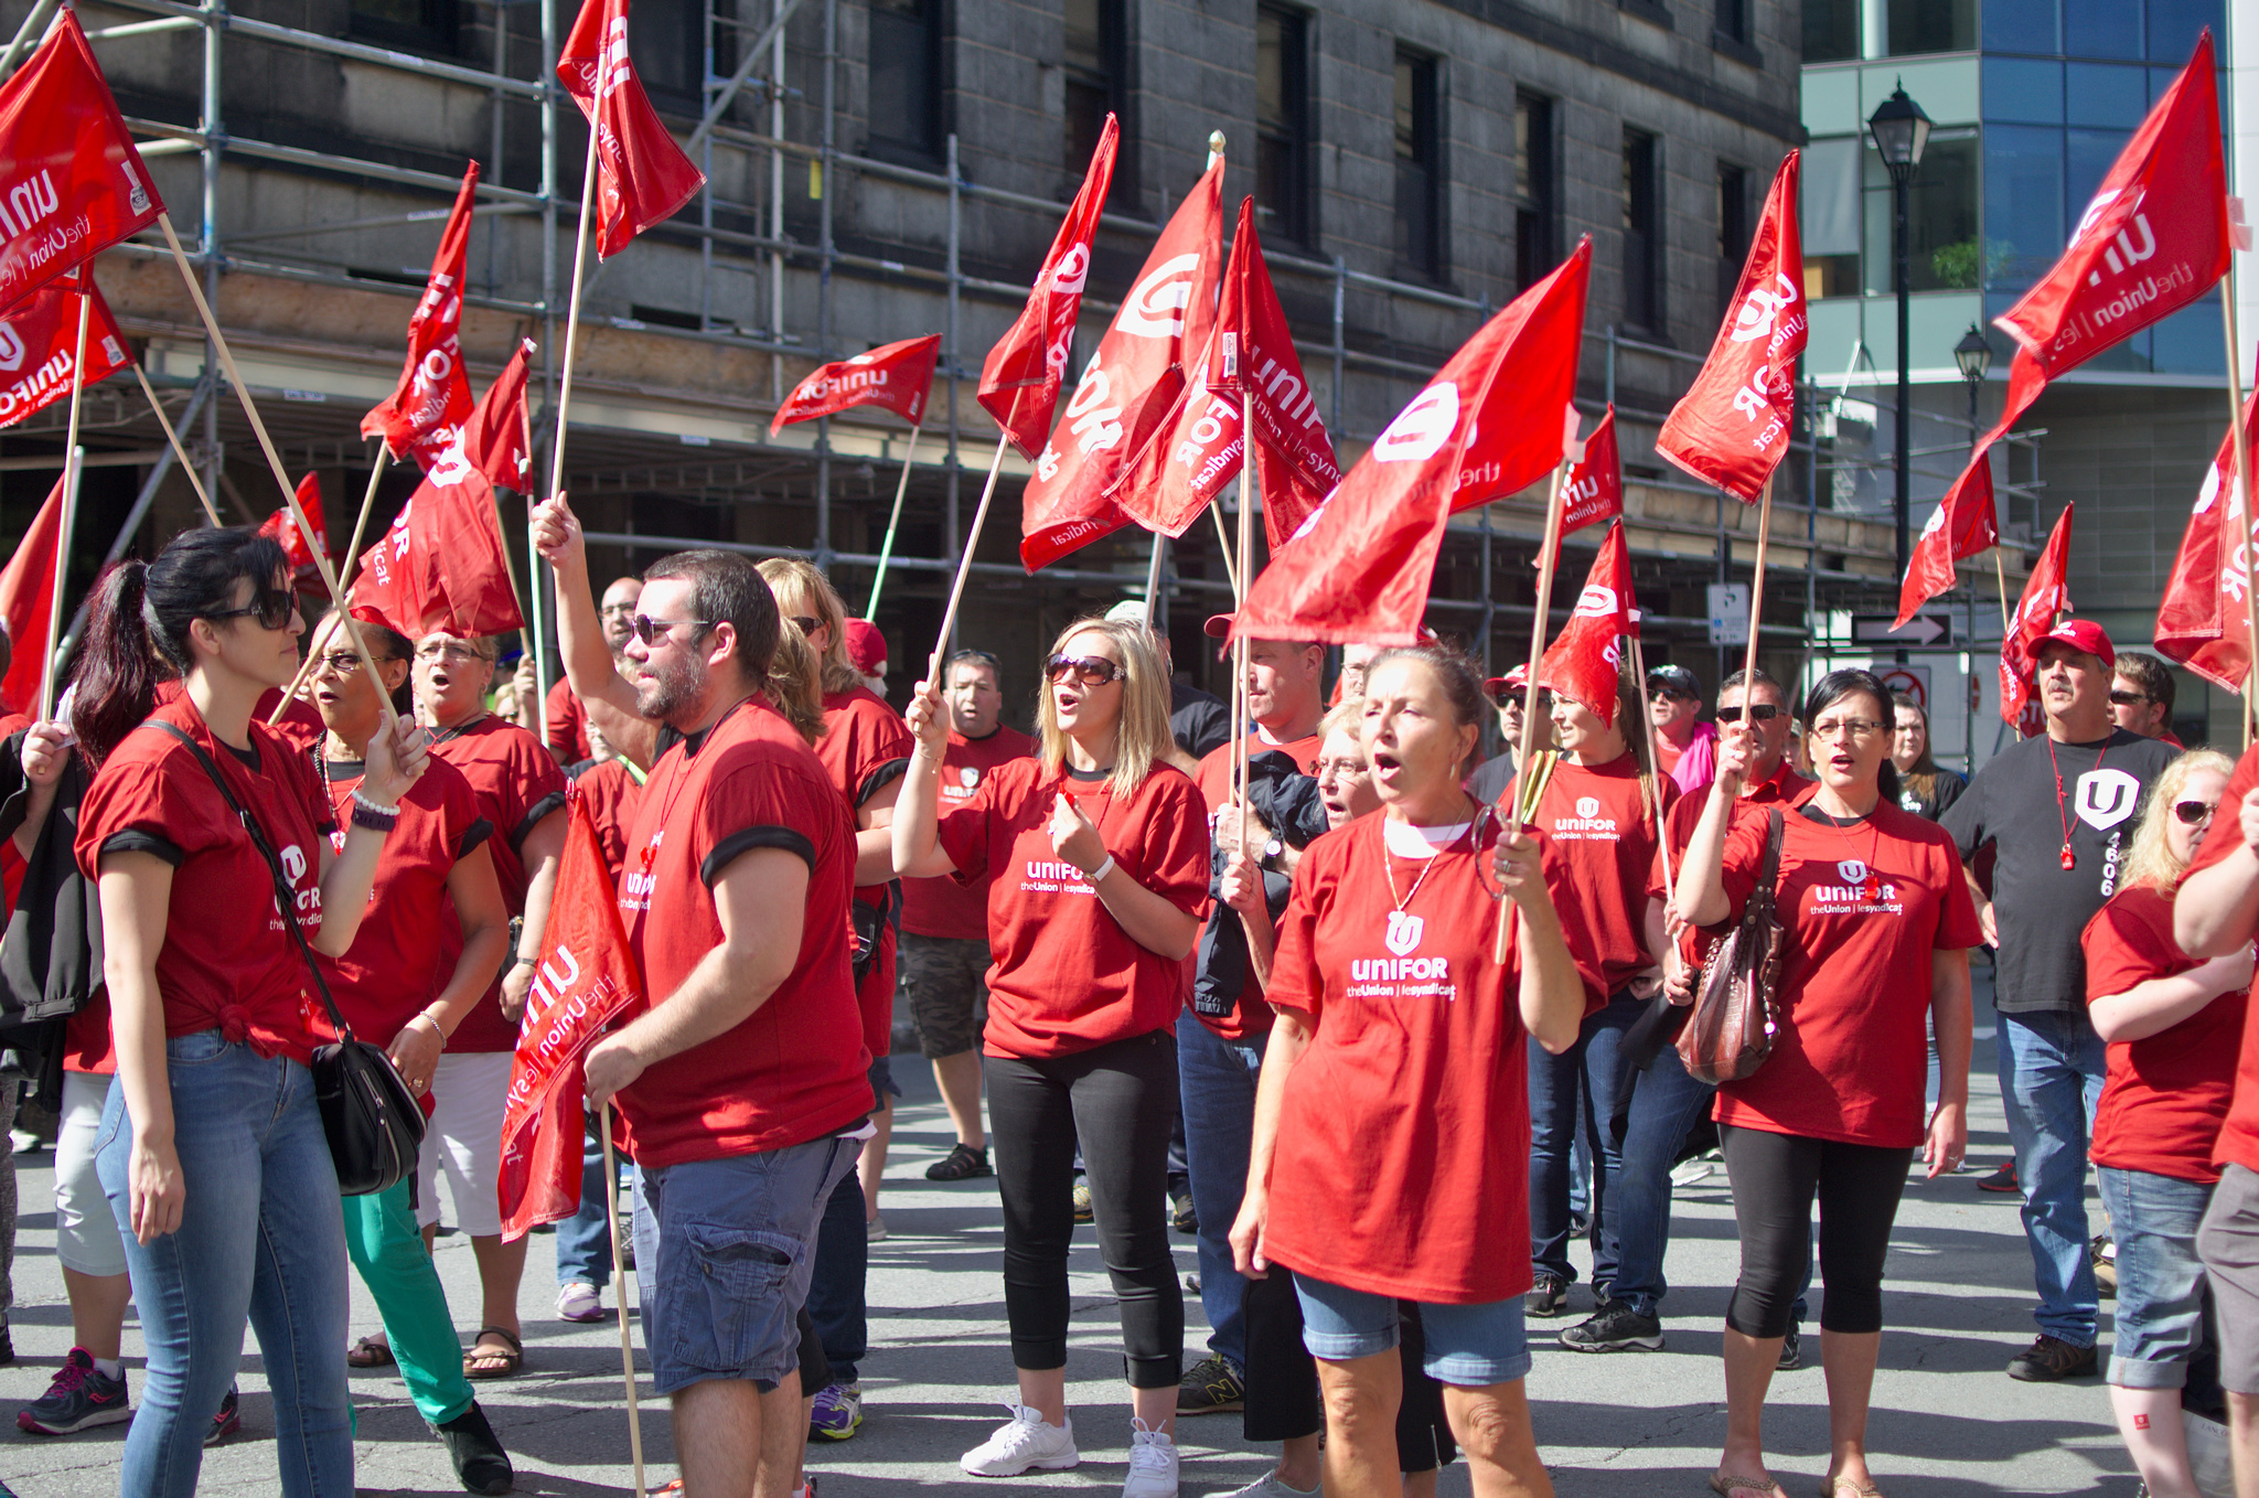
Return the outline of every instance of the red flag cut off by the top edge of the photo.
{"type": "Polygon", "coordinates": [[[628,0],[583,0],[558,54],[565,93],[596,131],[596,258],[675,217],[705,185],[628,63],[628,0]]]}

